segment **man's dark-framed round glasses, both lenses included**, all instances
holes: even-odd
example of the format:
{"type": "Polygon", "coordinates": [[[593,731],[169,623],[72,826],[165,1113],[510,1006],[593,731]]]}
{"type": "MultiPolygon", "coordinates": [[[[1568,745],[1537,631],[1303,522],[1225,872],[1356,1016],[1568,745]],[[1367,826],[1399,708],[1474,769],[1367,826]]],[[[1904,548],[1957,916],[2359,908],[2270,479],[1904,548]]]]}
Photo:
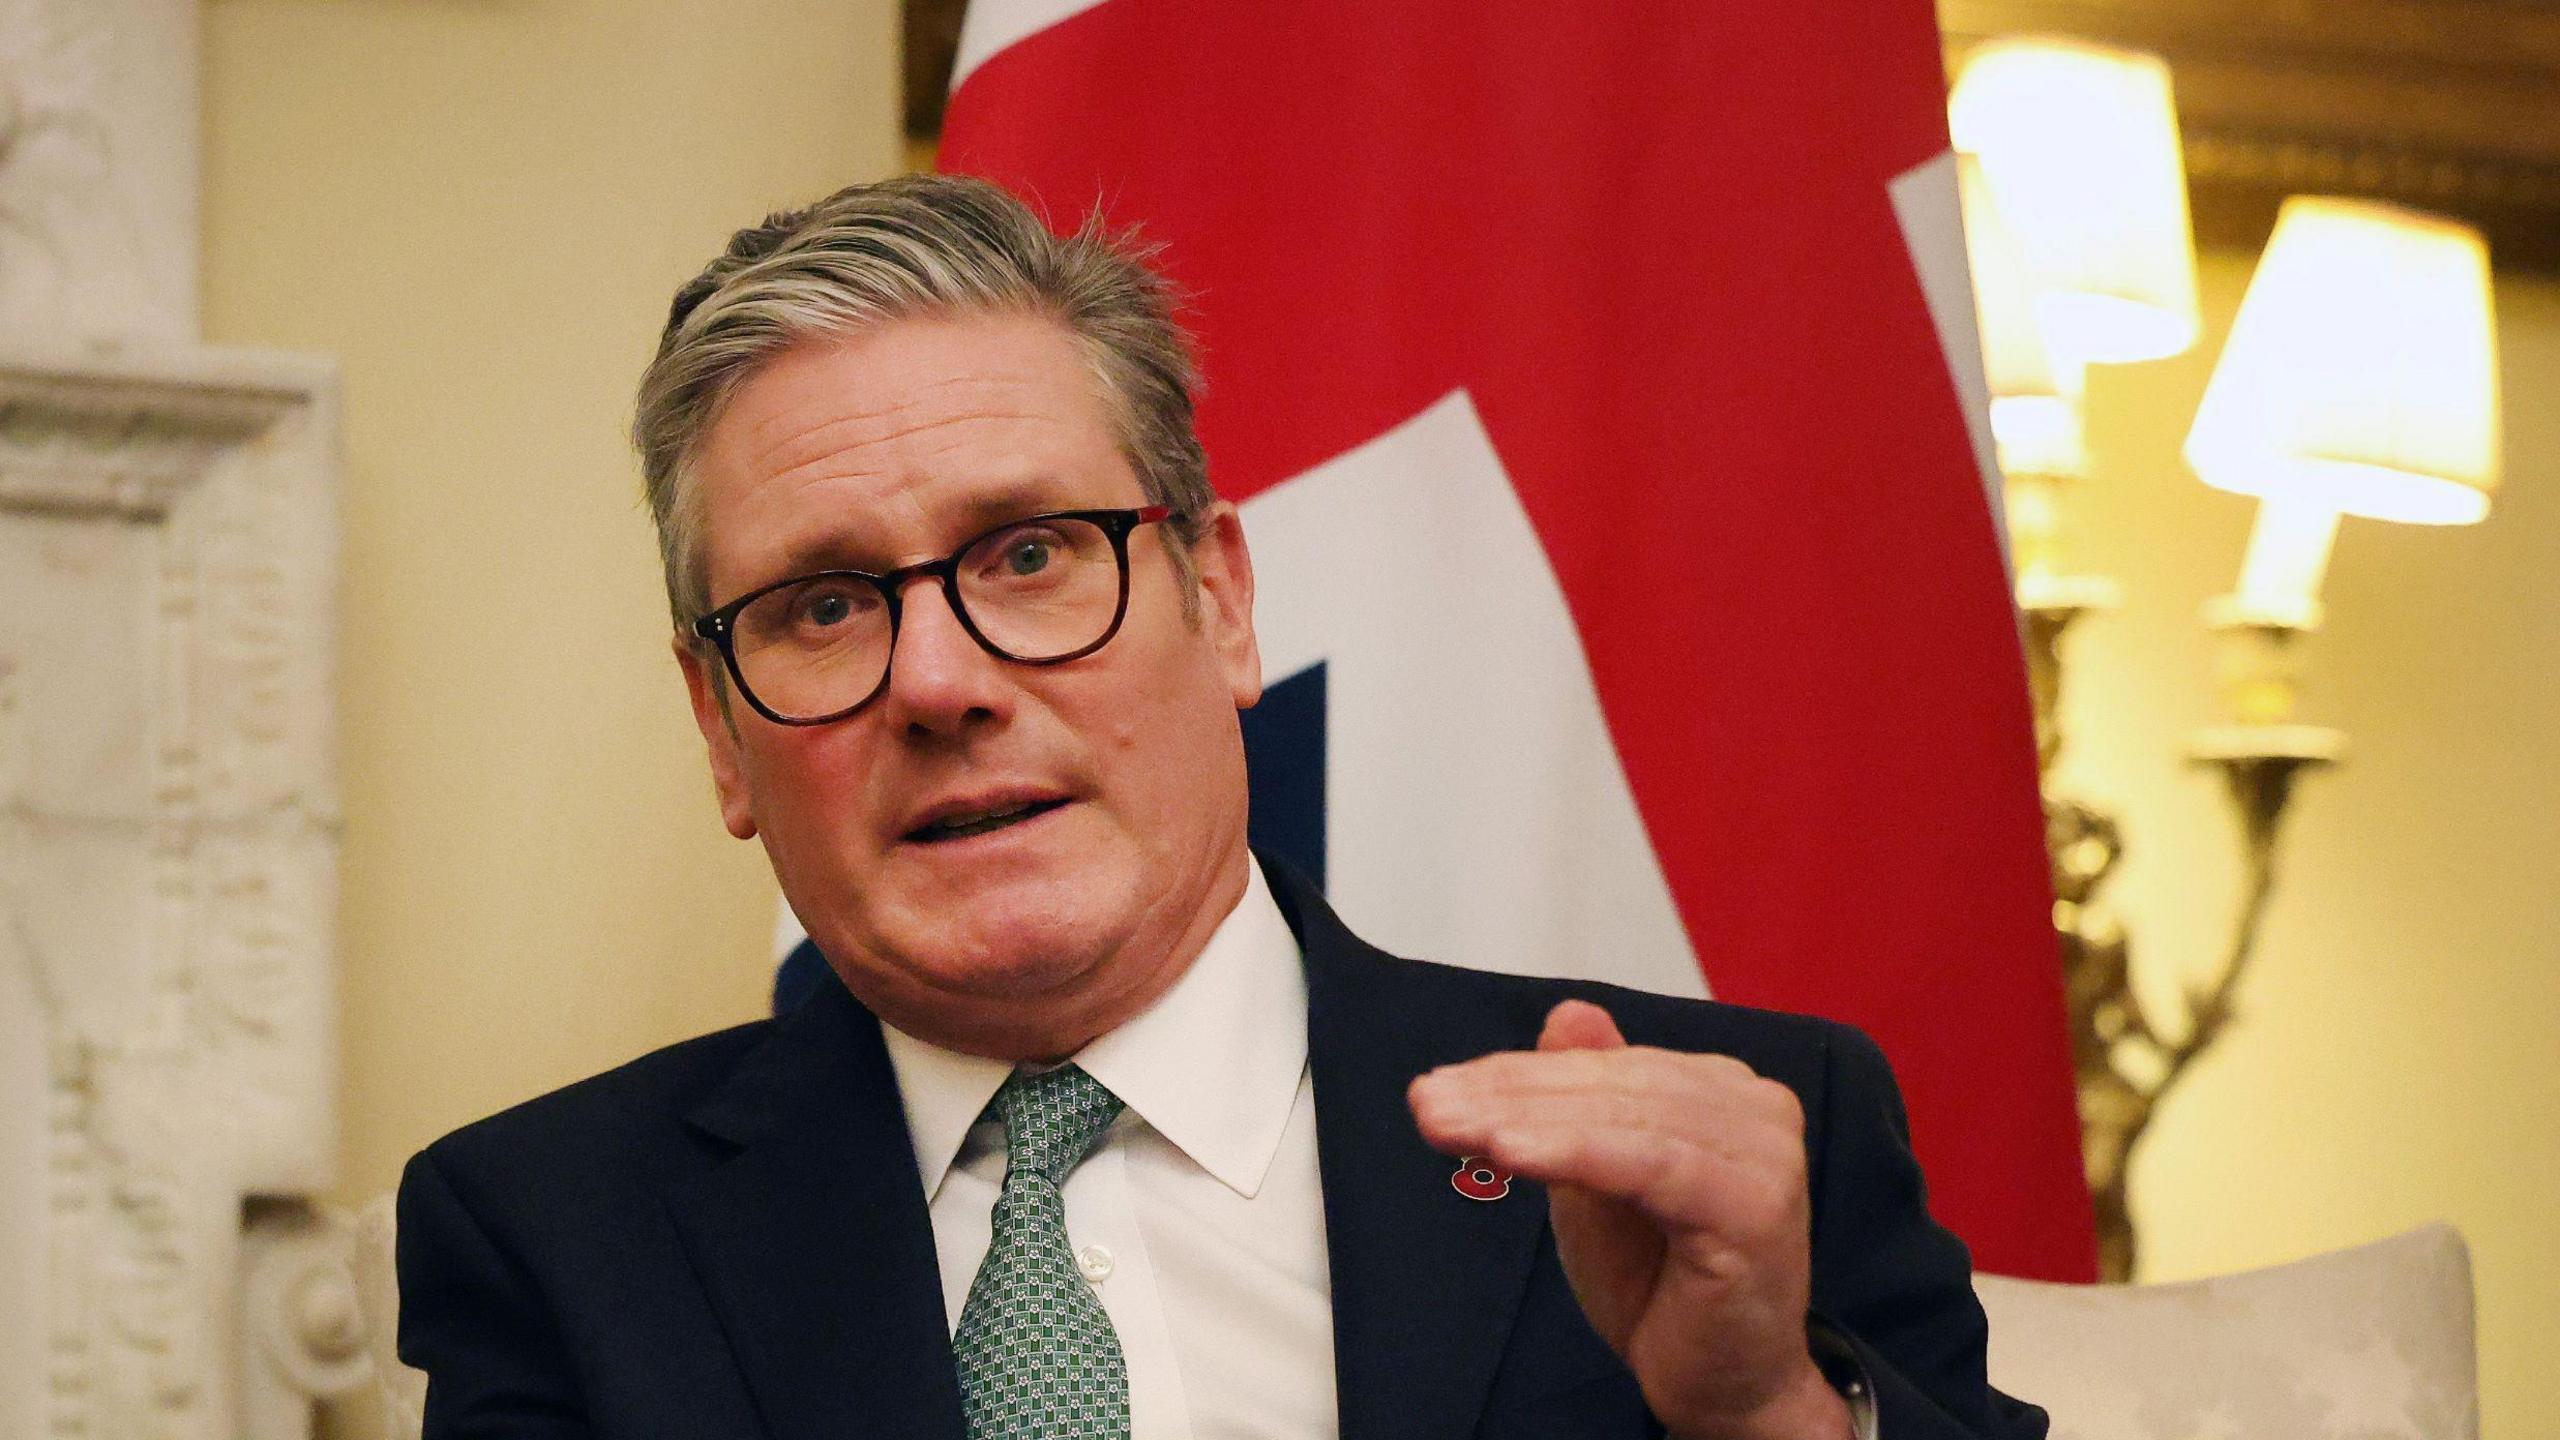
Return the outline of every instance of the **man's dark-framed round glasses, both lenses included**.
{"type": "Polygon", "coordinates": [[[942,582],[960,628],[991,656],[1055,666],[1111,643],[1129,615],[1129,530],[1172,515],[1057,510],[1006,520],[940,561],[888,574],[799,574],[694,620],[730,679],[776,725],[827,725],[888,689],[899,610],[916,577],[942,582]]]}

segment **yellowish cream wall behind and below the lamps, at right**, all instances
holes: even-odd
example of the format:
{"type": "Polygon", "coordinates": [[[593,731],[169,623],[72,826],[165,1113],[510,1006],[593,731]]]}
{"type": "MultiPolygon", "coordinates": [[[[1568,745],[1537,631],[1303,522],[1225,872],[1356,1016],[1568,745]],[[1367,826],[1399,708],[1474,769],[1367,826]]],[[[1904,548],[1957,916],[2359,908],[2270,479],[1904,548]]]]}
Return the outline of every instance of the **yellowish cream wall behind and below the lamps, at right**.
{"type": "MultiPolygon", "coordinates": [[[[2071,648],[2066,776],[2112,802],[2112,887],[2148,989],[2220,953],[2235,828],[2181,766],[2214,717],[2196,607],[2253,502],[2179,443],[2255,256],[2204,256],[2204,343],[2092,379],[2081,553],[2125,582],[2071,648]]],[[[2560,284],[2499,279],[2506,487],[2486,525],[2348,520],[2304,717],[2348,730],[2304,784],[2240,1020],[2132,1171],[2145,1279],[2289,1261],[2452,1220],[2473,1245],[2488,1435],[2560,1430],[2560,284]]]]}

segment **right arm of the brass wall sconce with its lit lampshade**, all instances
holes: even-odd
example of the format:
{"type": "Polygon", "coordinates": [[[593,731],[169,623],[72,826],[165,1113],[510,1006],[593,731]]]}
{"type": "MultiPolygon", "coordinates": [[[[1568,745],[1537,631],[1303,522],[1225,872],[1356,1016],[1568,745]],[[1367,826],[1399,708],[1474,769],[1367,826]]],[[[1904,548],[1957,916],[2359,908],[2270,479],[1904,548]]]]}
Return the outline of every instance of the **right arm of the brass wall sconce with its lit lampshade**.
{"type": "Polygon", "coordinates": [[[2276,881],[2294,779],[2345,735],[2296,725],[2299,653],[2342,515],[2470,525],[2499,484],[2499,346],[2488,246],[2470,225],[2365,200],[2296,195],[2250,277],[2186,436],[2204,484],[2255,495],[2240,584],[2204,620],[2222,635],[2225,723],[2189,743],[2240,812],[2245,889],[2222,969],[2191,986],[2186,1035],[2150,1099],[2230,1020],[2276,881]]]}

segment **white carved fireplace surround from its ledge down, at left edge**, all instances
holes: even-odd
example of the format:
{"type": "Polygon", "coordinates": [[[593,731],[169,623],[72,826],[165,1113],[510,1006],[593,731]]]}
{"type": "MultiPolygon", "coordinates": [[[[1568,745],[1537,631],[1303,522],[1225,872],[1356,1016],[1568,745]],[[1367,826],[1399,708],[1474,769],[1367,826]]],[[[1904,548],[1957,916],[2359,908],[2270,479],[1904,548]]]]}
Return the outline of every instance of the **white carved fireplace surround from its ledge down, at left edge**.
{"type": "Polygon", "coordinates": [[[0,354],[0,1435],[307,1435],[335,1145],[335,387],[0,354]]]}

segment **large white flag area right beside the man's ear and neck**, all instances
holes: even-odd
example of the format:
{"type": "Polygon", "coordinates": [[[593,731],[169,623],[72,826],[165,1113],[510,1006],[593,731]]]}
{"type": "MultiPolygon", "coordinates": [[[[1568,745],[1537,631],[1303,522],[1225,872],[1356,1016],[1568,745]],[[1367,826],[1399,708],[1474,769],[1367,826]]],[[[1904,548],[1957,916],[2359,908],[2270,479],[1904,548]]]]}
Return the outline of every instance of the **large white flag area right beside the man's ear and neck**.
{"type": "Polygon", "coordinates": [[[1262,674],[1326,666],[1326,889],[1400,956],[1705,994],[1564,589],[1464,389],[1244,502],[1262,674]]]}

